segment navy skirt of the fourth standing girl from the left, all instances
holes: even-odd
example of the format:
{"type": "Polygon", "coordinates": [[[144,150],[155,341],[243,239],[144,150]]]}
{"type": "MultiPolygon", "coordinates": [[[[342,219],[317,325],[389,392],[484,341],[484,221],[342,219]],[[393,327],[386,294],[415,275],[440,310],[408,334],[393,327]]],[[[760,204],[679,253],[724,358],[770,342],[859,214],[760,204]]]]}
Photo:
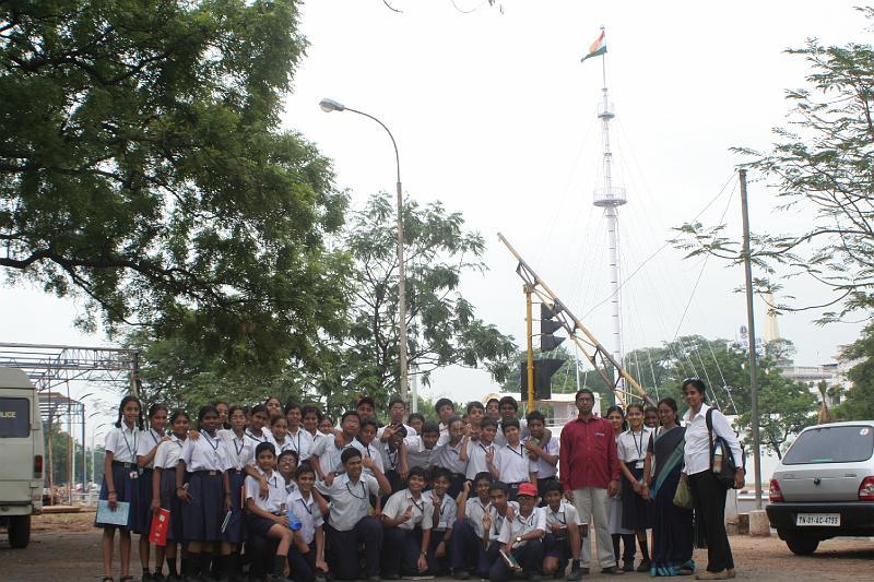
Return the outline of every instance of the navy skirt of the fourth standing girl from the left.
{"type": "Polygon", "coordinates": [[[224,519],[224,487],[221,471],[188,474],[191,501],[182,502],[182,537],[186,542],[220,542],[224,519]]]}

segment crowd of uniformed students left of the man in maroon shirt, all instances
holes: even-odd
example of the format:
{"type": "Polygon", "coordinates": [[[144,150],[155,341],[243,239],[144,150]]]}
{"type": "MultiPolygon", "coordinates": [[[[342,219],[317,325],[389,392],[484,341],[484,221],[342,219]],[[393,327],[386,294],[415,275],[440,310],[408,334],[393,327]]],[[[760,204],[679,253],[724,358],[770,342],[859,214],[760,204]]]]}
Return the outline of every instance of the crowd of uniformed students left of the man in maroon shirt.
{"type": "Polygon", "coordinates": [[[231,580],[244,561],[252,579],[298,582],[329,571],[340,580],[450,570],[466,578],[469,569],[488,575],[507,516],[509,524],[529,515],[525,498],[545,498],[551,486],[560,500],[558,442],[540,412],[518,419],[512,397],[472,402],[463,416],[448,399],[435,407],[439,423],[408,416],[394,399],[380,426],[375,402],[363,396],[334,426],[317,406],[283,407],[270,397],[251,408],[203,406],[193,423],[162,404],[143,414],[126,396],[106,437],[101,500],[113,511],[129,503],[129,516],[127,525],[96,523],[104,581],[113,580],[116,531],[122,582],[133,580],[131,532],[140,535],[143,581],[164,580],[165,565],[169,579],[231,580]],[[149,541],[158,509],[169,511],[164,546],[149,541]],[[468,514],[472,528],[453,538],[468,514]]]}

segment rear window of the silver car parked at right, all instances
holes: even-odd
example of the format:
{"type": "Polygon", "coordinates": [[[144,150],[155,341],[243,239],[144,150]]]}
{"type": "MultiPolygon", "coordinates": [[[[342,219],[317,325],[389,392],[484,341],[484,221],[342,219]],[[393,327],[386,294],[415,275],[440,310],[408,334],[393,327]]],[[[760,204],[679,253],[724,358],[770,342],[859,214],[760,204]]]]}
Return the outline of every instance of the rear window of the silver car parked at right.
{"type": "Polygon", "coordinates": [[[808,463],[855,463],[874,452],[874,429],[870,426],[836,426],[803,432],[783,456],[784,465],[808,463]]]}

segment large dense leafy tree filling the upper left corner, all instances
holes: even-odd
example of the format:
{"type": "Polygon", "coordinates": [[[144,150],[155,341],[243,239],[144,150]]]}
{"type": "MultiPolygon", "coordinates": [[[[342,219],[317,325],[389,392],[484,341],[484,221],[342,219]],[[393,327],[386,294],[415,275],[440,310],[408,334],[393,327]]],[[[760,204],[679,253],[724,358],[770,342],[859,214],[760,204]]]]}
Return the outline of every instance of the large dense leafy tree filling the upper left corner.
{"type": "Polygon", "coordinates": [[[341,332],[345,195],[280,131],[294,0],[0,4],[0,269],[87,299],[79,323],[306,360],[341,332]]]}

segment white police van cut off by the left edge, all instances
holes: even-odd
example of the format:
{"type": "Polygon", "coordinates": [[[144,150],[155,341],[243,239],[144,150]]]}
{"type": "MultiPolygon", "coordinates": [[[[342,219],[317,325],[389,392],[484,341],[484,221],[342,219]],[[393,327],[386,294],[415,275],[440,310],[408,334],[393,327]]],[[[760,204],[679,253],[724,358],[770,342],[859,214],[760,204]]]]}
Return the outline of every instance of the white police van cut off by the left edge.
{"type": "Polygon", "coordinates": [[[27,376],[0,367],[0,527],[13,548],[31,541],[31,515],[43,512],[43,421],[27,376]]]}

